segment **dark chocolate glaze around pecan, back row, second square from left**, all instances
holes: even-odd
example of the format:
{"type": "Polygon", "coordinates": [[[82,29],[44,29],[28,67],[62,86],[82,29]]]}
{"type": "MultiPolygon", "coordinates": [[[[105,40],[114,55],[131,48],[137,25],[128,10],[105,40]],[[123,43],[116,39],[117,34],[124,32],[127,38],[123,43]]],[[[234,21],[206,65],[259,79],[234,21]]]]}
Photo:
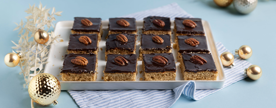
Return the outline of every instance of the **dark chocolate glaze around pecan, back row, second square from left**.
{"type": "Polygon", "coordinates": [[[108,28],[110,31],[136,31],[135,18],[109,18],[108,28]],[[129,26],[120,26],[116,23],[117,20],[124,19],[128,21],[129,26]]]}

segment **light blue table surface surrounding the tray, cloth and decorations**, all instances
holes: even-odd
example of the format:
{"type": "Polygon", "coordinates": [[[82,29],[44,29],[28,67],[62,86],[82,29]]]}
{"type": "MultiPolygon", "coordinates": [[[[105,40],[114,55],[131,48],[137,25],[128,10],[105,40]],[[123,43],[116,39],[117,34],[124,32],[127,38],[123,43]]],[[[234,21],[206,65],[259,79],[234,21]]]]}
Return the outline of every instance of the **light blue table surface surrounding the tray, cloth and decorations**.
{"type": "MultiPolygon", "coordinates": [[[[57,21],[73,20],[73,17],[119,17],[129,13],[153,9],[172,2],[177,2],[185,11],[194,17],[209,21],[216,42],[222,42],[229,50],[238,49],[241,45],[249,45],[253,55],[247,61],[262,68],[262,77],[256,81],[246,78],[224,88],[199,101],[181,95],[172,107],[275,107],[276,72],[276,1],[259,0],[256,9],[248,15],[236,12],[233,4],[220,8],[212,0],[139,0],[139,1],[41,1],[43,6],[55,7],[63,11],[57,21]]],[[[29,4],[39,4],[35,0],[0,1],[0,107],[31,107],[28,90],[23,88],[23,75],[20,68],[9,68],[4,64],[4,56],[12,52],[14,46],[10,40],[17,42],[17,32],[12,31],[22,18],[29,4]]],[[[25,18],[24,18],[25,19],[25,18]]],[[[78,107],[67,91],[62,91],[54,108],[78,107]]]]}

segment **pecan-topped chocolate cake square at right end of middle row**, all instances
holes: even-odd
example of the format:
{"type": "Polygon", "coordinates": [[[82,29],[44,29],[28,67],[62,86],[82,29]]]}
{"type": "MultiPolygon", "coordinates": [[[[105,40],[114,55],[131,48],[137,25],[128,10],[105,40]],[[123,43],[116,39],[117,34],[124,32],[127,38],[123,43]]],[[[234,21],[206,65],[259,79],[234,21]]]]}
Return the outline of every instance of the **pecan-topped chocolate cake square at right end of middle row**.
{"type": "Polygon", "coordinates": [[[204,35],[177,36],[176,38],[179,58],[181,57],[181,53],[210,53],[206,36],[204,35]]]}

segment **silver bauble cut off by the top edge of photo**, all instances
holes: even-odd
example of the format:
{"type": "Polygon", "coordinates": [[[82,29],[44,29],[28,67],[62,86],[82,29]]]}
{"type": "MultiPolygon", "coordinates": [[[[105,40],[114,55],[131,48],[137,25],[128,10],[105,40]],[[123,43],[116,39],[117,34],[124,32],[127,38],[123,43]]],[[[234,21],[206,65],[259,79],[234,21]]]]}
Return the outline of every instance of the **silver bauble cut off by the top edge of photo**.
{"type": "Polygon", "coordinates": [[[233,4],[238,12],[248,14],[256,8],[258,0],[234,0],[233,4]]]}

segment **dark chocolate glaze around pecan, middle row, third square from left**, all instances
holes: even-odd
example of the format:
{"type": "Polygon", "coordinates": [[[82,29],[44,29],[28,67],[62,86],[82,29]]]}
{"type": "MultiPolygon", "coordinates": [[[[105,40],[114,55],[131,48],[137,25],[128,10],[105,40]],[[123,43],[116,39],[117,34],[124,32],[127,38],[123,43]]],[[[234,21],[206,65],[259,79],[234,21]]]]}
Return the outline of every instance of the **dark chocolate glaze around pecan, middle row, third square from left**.
{"type": "Polygon", "coordinates": [[[141,48],[142,49],[171,49],[171,36],[169,34],[157,35],[161,37],[164,42],[162,44],[156,43],[152,40],[154,34],[142,34],[141,35],[141,48]]]}

